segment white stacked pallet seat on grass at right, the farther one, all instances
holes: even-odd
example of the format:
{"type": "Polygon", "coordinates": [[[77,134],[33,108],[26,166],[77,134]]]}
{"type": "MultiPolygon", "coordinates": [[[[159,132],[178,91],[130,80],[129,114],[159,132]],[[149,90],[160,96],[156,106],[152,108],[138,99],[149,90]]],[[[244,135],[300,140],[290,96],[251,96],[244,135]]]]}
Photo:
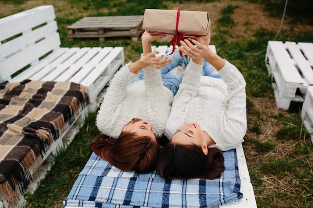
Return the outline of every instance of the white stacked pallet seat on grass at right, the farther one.
{"type": "Polygon", "coordinates": [[[307,86],[313,85],[313,43],[268,41],[265,64],[278,108],[304,101],[307,86]]]}

